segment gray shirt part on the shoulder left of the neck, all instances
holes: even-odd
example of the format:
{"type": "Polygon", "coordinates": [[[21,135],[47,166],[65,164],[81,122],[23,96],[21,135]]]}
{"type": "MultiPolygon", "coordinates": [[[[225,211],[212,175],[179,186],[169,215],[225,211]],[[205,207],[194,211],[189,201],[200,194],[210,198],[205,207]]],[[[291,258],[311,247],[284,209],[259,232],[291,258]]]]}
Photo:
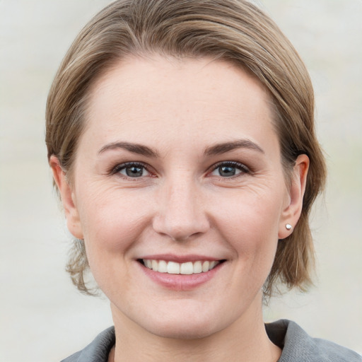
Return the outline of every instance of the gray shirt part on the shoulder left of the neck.
{"type": "Polygon", "coordinates": [[[115,327],[105,329],[85,349],[72,354],[61,362],[107,362],[115,344],[115,327]]]}

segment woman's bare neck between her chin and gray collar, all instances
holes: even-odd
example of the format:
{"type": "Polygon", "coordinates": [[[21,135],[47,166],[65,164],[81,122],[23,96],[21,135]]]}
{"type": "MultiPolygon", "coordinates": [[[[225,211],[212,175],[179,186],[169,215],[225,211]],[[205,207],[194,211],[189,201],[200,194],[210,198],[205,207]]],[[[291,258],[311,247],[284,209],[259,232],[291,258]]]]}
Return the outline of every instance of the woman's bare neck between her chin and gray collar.
{"type": "Polygon", "coordinates": [[[160,337],[136,325],[124,315],[115,313],[116,346],[114,362],[276,362],[281,354],[271,343],[262,320],[262,307],[257,313],[245,313],[225,329],[197,339],[160,337]]]}

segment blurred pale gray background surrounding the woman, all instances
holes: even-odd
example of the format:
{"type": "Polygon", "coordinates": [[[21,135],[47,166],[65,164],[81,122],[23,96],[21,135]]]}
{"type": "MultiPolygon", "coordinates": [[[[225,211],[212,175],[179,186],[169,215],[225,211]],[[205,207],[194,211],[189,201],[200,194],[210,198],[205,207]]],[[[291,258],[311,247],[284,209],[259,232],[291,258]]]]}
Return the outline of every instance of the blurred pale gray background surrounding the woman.
{"type": "MultiPolygon", "coordinates": [[[[327,156],[313,212],[315,287],[265,319],[362,353],[362,0],[257,1],[310,70],[327,156]]],[[[59,361],[112,324],[64,271],[69,240],[44,144],[45,100],[66,49],[108,0],[0,0],[0,361],[59,361]]]]}

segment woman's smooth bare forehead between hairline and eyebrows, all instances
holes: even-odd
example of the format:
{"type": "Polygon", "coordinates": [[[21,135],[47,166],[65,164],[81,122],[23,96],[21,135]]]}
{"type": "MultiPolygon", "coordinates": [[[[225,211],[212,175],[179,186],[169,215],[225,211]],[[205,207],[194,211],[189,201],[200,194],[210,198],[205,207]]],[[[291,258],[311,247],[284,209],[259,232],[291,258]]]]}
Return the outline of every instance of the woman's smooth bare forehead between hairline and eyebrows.
{"type": "Polygon", "coordinates": [[[86,132],[102,141],[180,141],[187,134],[192,141],[197,134],[213,142],[237,133],[253,139],[274,134],[270,102],[262,83],[228,62],[130,57],[93,84],[86,132]]]}

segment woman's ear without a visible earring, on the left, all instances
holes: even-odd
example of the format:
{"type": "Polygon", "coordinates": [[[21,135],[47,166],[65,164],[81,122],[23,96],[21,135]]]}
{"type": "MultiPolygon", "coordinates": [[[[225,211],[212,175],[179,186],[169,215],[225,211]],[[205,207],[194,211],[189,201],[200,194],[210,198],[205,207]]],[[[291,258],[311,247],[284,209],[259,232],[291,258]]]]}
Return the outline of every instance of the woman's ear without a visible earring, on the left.
{"type": "Polygon", "coordinates": [[[57,184],[57,187],[62,198],[62,204],[64,207],[64,213],[66,216],[66,226],[68,227],[69,232],[77,239],[83,239],[83,231],[81,228],[81,220],[79,218],[78,209],[74,202],[74,192],[69,185],[69,181],[66,179],[66,174],[59,163],[59,160],[56,156],[50,156],[49,159],[50,168],[52,168],[52,173],[54,181],[57,184]]]}

